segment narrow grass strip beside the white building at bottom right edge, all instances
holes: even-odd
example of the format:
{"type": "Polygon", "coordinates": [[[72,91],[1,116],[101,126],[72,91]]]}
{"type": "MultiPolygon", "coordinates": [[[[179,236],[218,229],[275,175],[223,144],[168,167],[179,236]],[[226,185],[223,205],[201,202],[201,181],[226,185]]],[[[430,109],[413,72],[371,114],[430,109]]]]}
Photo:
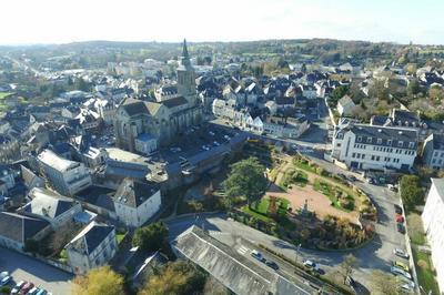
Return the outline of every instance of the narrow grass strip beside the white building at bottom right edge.
{"type": "Polygon", "coordinates": [[[440,294],[440,288],[432,271],[430,255],[412,247],[413,260],[415,261],[417,281],[425,292],[432,291],[432,294],[440,294]]]}

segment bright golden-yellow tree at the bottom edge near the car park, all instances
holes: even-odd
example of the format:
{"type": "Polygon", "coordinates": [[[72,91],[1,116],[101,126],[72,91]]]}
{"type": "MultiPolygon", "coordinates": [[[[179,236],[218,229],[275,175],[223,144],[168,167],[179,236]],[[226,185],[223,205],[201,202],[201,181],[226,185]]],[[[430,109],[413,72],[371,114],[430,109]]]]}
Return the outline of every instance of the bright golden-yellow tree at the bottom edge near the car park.
{"type": "Polygon", "coordinates": [[[91,269],[85,275],[74,278],[73,295],[121,295],[123,292],[123,277],[111,269],[102,266],[91,269]]]}

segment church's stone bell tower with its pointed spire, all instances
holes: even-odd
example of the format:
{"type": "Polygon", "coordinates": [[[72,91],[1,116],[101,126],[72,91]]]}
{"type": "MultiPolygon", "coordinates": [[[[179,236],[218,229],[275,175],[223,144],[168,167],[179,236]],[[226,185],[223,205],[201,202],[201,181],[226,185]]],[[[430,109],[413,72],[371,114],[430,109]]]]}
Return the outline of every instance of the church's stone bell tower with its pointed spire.
{"type": "Polygon", "coordinates": [[[195,104],[195,73],[188,54],[186,40],[183,40],[182,57],[178,68],[178,93],[191,104],[195,104]]]}

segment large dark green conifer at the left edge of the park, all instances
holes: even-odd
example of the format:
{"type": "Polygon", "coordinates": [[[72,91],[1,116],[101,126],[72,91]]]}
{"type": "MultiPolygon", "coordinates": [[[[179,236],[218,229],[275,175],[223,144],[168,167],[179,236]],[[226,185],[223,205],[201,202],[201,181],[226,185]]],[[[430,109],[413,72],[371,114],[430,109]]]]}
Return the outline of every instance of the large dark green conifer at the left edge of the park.
{"type": "Polygon", "coordinates": [[[228,196],[245,196],[250,208],[251,203],[265,193],[268,185],[265,167],[256,157],[249,157],[231,165],[229,177],[223,183],[228,196]]]}

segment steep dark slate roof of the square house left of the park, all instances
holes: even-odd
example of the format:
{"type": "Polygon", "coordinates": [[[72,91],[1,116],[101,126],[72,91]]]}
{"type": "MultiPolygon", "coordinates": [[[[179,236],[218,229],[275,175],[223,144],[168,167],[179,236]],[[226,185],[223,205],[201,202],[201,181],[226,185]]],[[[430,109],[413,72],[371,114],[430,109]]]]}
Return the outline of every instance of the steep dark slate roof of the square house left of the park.
{"type": "Polygon", "coordinates": [[[113,200],[127,206],[139,207],[158,191],[159,187],[153,184],[124,179],[113,200]]]}

